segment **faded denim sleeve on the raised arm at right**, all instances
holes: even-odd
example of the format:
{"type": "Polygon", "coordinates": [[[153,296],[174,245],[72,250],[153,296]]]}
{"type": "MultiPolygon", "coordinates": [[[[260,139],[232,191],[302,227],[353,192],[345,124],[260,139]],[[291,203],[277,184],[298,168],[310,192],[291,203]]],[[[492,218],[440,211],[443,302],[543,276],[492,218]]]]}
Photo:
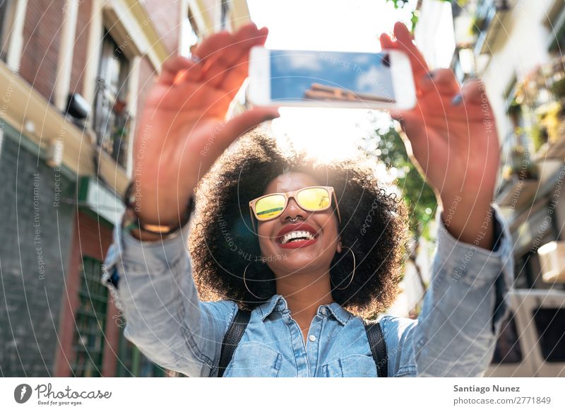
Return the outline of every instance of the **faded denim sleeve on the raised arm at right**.
{"type": "Polygon", "coordinates": [[[381,319],[393,376],[482,376],[509,310],[512,242],[498,208],[494,251],[456,240],[440,216],[441,208],[432,282],[418,319],[381,319]]]}

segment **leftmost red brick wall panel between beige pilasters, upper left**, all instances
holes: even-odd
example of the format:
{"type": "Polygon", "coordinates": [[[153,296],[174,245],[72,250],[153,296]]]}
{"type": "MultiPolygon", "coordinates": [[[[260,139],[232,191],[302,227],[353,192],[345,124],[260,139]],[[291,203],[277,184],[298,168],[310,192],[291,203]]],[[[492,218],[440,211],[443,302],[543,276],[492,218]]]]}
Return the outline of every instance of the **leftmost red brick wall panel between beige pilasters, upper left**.
{"type": "Polygon", "coordinates": [[[49,101],[57,78],[63,6],[64,0],[28,1],[23,25],[20,76],[49,101]]]}

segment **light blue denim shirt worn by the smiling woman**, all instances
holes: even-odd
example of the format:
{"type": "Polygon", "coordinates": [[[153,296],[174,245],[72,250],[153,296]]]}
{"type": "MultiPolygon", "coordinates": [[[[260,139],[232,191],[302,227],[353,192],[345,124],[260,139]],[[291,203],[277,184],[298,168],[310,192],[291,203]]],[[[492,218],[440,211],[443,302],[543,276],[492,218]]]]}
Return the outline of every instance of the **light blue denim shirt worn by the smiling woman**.
{"type": "MultiPolygon", "coordinates": [[[[493,205],[494,251],[459,242],[437,211],[432,281],[417,320],[381,315],[388,376],[480,377],[494,351],[513,281],[511,237],[493,205]]],[[[126,318],[124,336],[150,360],[190,377],[218,376],[237,304],[198,300],[188,228],[141,242],[116,228],[102,281],[126,318]],[[116,288],[119,279],[119,287],[116,288]]],[[[287,301],[255,307],[225,377],[376,377],[363,320],[337,302],[320,305],[304,342],[287,301]]]]}

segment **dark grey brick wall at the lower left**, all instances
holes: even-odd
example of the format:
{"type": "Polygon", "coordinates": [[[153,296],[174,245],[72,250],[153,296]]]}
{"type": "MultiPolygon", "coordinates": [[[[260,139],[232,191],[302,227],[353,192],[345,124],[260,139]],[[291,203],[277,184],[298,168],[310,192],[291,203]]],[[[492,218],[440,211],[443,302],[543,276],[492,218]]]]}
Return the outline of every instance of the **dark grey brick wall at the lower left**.
{"type": "MultiPolygon", "coordinates": [[[[5,135],[15,133],[7,128],[5,135]]],[[[6,136],[0,176],[0,369],[4,376],[50,376],[73,228],[73,206],[63,200],[74,184],[6,136]]]]}

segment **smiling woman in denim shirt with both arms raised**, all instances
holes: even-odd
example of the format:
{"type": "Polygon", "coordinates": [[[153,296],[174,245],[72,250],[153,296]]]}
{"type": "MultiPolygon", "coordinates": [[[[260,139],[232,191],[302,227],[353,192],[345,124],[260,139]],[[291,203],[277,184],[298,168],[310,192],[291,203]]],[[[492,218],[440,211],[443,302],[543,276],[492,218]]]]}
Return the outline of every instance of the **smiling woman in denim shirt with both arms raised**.
{"type": "MultiPolygon", "coordinates": [[[[171,370],[218,376],[239,305],[251,319],[224,376],[376,376],[362,316],[398,293],[405,207],[370,167],[285,155],[258,131],[225,151],[278,117],[255,107],[224,120],[249,49],[266,35],[246,25],[208,37],[194,51],[199,59],[164,64],[138,119],[124,218],[141,228],[114,231],[105,278],[119,279],[126,337],[171,370]],[[185,247],[193,196],[194,278],[185,247]]],[[[403,24],[394,35],[381,35],[381,45],[410,56],[418,105],[392,115],[440,208],[420,317],[380,319],[387,375],[480,376],[512,277],[509,234],[491,206],[499,162],[492,110],[479,81],[460,88],[450,70],[430,73],[403,24]]]]}

